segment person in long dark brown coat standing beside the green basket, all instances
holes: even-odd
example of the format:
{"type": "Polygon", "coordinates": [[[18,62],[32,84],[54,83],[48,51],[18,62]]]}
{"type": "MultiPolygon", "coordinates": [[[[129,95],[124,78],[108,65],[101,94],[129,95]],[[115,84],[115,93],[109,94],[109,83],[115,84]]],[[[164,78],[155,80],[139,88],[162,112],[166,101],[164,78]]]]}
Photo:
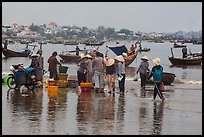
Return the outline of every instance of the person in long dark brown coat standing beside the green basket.
{"type": "Polygon", "coordinates": [[[54,80],[58,80],[57,75],[57,64],[61,65],[61,63],[56,58],[57,52],[54,51],[52,56],[49,57],[47,63],[49,63],[48,71],[50,72],[50,78],[54,78],[54,80]]]}

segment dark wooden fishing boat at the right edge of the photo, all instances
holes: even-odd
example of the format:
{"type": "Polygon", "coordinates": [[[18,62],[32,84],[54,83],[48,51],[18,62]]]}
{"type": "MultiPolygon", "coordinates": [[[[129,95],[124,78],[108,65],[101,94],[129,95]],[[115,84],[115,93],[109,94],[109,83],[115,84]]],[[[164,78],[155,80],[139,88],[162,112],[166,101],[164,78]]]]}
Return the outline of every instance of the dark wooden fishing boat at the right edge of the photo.
{"type": "Polygon", "coordinates": [[[169,61],[172,65],[201,65],[202,63],[202,54],[188,54],[186,58],[175,58],[173,50],[171,48],[172,56],[169,57],[169,61]],[[197,55],[197,56],[196,56],[197,55]]]}

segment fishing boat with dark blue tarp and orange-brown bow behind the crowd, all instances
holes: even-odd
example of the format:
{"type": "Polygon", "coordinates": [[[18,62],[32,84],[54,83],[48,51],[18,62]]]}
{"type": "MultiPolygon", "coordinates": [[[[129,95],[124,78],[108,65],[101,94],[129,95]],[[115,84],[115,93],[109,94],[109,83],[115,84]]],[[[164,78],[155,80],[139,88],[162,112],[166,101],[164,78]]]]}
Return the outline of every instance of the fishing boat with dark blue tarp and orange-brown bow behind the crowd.
{"type": "MultiPolygon", "coordinates": [[[[108,47],[108,46],[106,46],[108,47]]],[[[108,47],[111,49],[117,56],[122,55],[122,53],[127,53],[127,57],[125,57],[125,66],[128,67],[137,57],[139,50],[128,51],[125,45],[116,46],[116,47],[108,47]]]]}

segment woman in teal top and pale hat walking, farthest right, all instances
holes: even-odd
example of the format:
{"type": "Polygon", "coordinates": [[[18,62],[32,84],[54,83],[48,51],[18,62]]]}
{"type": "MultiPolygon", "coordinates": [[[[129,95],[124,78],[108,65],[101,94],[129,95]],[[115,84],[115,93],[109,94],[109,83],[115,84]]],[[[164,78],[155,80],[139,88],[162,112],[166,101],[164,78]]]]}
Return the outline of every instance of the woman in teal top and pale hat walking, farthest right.
{"type": "Polygon", "coordinates": [[[153,76],[153,80],[155,83],[155,87],[154,87],[154,100],[156,99],[157,94],[159,95],[160,99],[165,100],[162,92],[160,91],[160,84],[162,82],[162,75],[163,75],[163,67],[160,65],[160,59],[156,58],[153,60],[153,62],[155,63],[155,66],[153,66],[151,73],[149,75],[150,79],[153,76]]]}

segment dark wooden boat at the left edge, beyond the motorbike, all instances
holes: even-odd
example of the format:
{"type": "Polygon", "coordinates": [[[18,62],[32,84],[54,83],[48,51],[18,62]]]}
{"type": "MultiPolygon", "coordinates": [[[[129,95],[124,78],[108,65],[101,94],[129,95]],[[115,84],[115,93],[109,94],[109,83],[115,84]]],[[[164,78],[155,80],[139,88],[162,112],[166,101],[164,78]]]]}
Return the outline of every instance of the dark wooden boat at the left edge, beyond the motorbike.
{"type": "Polygon", "coordinates": [[[29,54],[31,53],[30,50],[28,50],[27,52],[17,52],[17,51],[13,51],[10,49],[5,49],[2,48],[2,53],[5,57],[28,57],[29,54]]]}

